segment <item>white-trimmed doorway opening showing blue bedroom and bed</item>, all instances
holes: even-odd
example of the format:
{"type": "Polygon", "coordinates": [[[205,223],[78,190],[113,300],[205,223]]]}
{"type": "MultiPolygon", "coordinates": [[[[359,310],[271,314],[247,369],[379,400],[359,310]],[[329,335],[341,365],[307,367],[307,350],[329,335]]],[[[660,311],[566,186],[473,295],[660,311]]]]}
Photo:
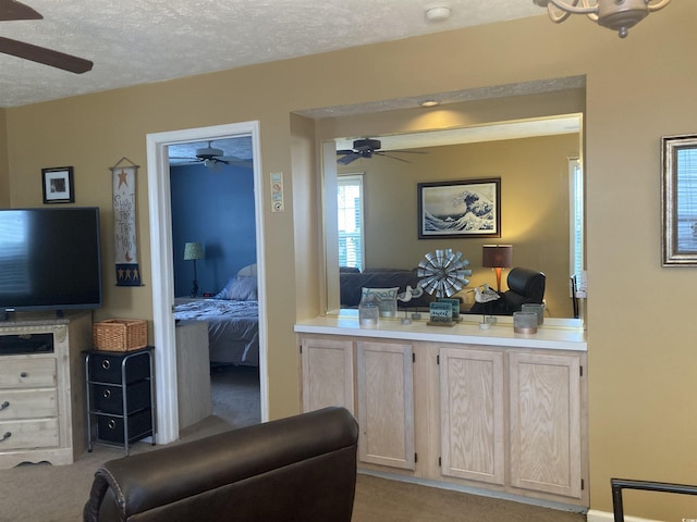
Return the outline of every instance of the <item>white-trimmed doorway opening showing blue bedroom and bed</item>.
{"type": "Polygon", "coordinates": [[[204,419],[207,427],[258,424],[252,136],[187,141],[168,151],[178,378],[187,397],[180,400],[180,434],[200,428],[204,419]]]}

